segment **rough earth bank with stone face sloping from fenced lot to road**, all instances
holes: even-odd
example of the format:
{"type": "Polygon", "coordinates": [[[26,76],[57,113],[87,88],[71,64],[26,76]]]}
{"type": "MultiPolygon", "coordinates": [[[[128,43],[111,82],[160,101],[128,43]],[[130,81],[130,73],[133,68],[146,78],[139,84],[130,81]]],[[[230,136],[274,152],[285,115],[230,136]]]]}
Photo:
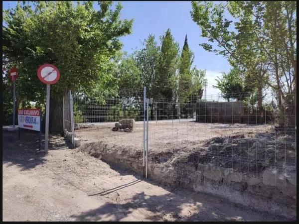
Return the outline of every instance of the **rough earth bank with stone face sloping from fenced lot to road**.
{"type": "MultiPolygon", "coordinates": [[[[272,185],[271,181],[276,182],[276,179],[265,182],[265,173],[272,169],[277,156],[284,160],[283,156],[293,158],[296,152],[296,149],[288,150],[286,154],[286,143],[278,142],[276,137],[272,133],[254,137],[215,137],[193,144],[188,150],[179,147],[152,150],[148,157],[148,176],[161,184],[208,193],[262,211],[294,217],[296,185],[288,180],[285,180],[287,186],[282,184],[280,187],[272,185]]],[[[288,147],[292,148],[292,145],[288,147]]],[[[111,146],[103,141],[85,144],[81,149],[108,164],[120,165],[141,175],[144,173],[142,151],[111,146]]],[[[275,172],[281,172],[282,168],[277,164],[275,172]]],[[[289,174],[296,178],[294,169],[289,174]]]]}

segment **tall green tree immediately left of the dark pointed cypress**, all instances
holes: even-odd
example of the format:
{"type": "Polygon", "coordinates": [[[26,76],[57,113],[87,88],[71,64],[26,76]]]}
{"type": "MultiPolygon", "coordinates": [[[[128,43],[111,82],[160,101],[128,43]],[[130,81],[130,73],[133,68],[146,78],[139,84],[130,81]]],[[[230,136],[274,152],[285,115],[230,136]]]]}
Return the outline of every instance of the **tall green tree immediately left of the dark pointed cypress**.
{"type": "Polygon", "coordinates": [[[173,99],[173,83],[178,66],[178,43],[174,41],[170,29],[160,37],[161,50],[157,70],[157,96],[156,98],[173,99]]]}

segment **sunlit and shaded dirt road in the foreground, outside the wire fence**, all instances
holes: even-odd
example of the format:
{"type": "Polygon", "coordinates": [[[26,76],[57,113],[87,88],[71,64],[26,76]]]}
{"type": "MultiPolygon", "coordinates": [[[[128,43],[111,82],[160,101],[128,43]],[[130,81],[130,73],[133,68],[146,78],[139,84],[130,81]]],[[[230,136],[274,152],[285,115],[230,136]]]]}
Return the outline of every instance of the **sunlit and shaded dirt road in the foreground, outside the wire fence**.
{"type": "Polygon", "coordinates": [[[51,136],[48,153],[37,147],[36,132],[22,131],[20,140],[17,132],[3,132],[3,221],[287,221],[213,196],[157,186],[70,149],[57,135],[51,136]]]}

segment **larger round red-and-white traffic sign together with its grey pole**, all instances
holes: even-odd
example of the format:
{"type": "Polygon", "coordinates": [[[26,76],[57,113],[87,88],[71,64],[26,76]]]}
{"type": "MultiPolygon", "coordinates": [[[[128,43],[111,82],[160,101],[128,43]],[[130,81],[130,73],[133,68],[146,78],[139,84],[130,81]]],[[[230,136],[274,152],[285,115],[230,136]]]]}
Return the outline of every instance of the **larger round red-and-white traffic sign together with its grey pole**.
{"type": "Polygon", "coordinates": [[[38,79],[47,85],[46,97],[46,129],[45,129],[45,150],[48,150],[49,140],[49,111],[50,111],[50,85],[55,84],[59,78],[59,70],[51,64],[43,64],[37,70],[38,79]]]}

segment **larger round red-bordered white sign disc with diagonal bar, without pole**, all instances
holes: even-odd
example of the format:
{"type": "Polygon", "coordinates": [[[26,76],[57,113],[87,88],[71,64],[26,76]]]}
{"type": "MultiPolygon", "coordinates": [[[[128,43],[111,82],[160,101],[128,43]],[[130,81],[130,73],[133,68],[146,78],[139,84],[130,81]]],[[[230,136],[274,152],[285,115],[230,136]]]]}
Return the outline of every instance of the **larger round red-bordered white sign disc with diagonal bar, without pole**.
{"type": "Polygon", "coordinates": [[[44,64],[37,69],[37,77],[44,84],[55,84],[60,78],[60,73],[54,65],[44,64]]]}

